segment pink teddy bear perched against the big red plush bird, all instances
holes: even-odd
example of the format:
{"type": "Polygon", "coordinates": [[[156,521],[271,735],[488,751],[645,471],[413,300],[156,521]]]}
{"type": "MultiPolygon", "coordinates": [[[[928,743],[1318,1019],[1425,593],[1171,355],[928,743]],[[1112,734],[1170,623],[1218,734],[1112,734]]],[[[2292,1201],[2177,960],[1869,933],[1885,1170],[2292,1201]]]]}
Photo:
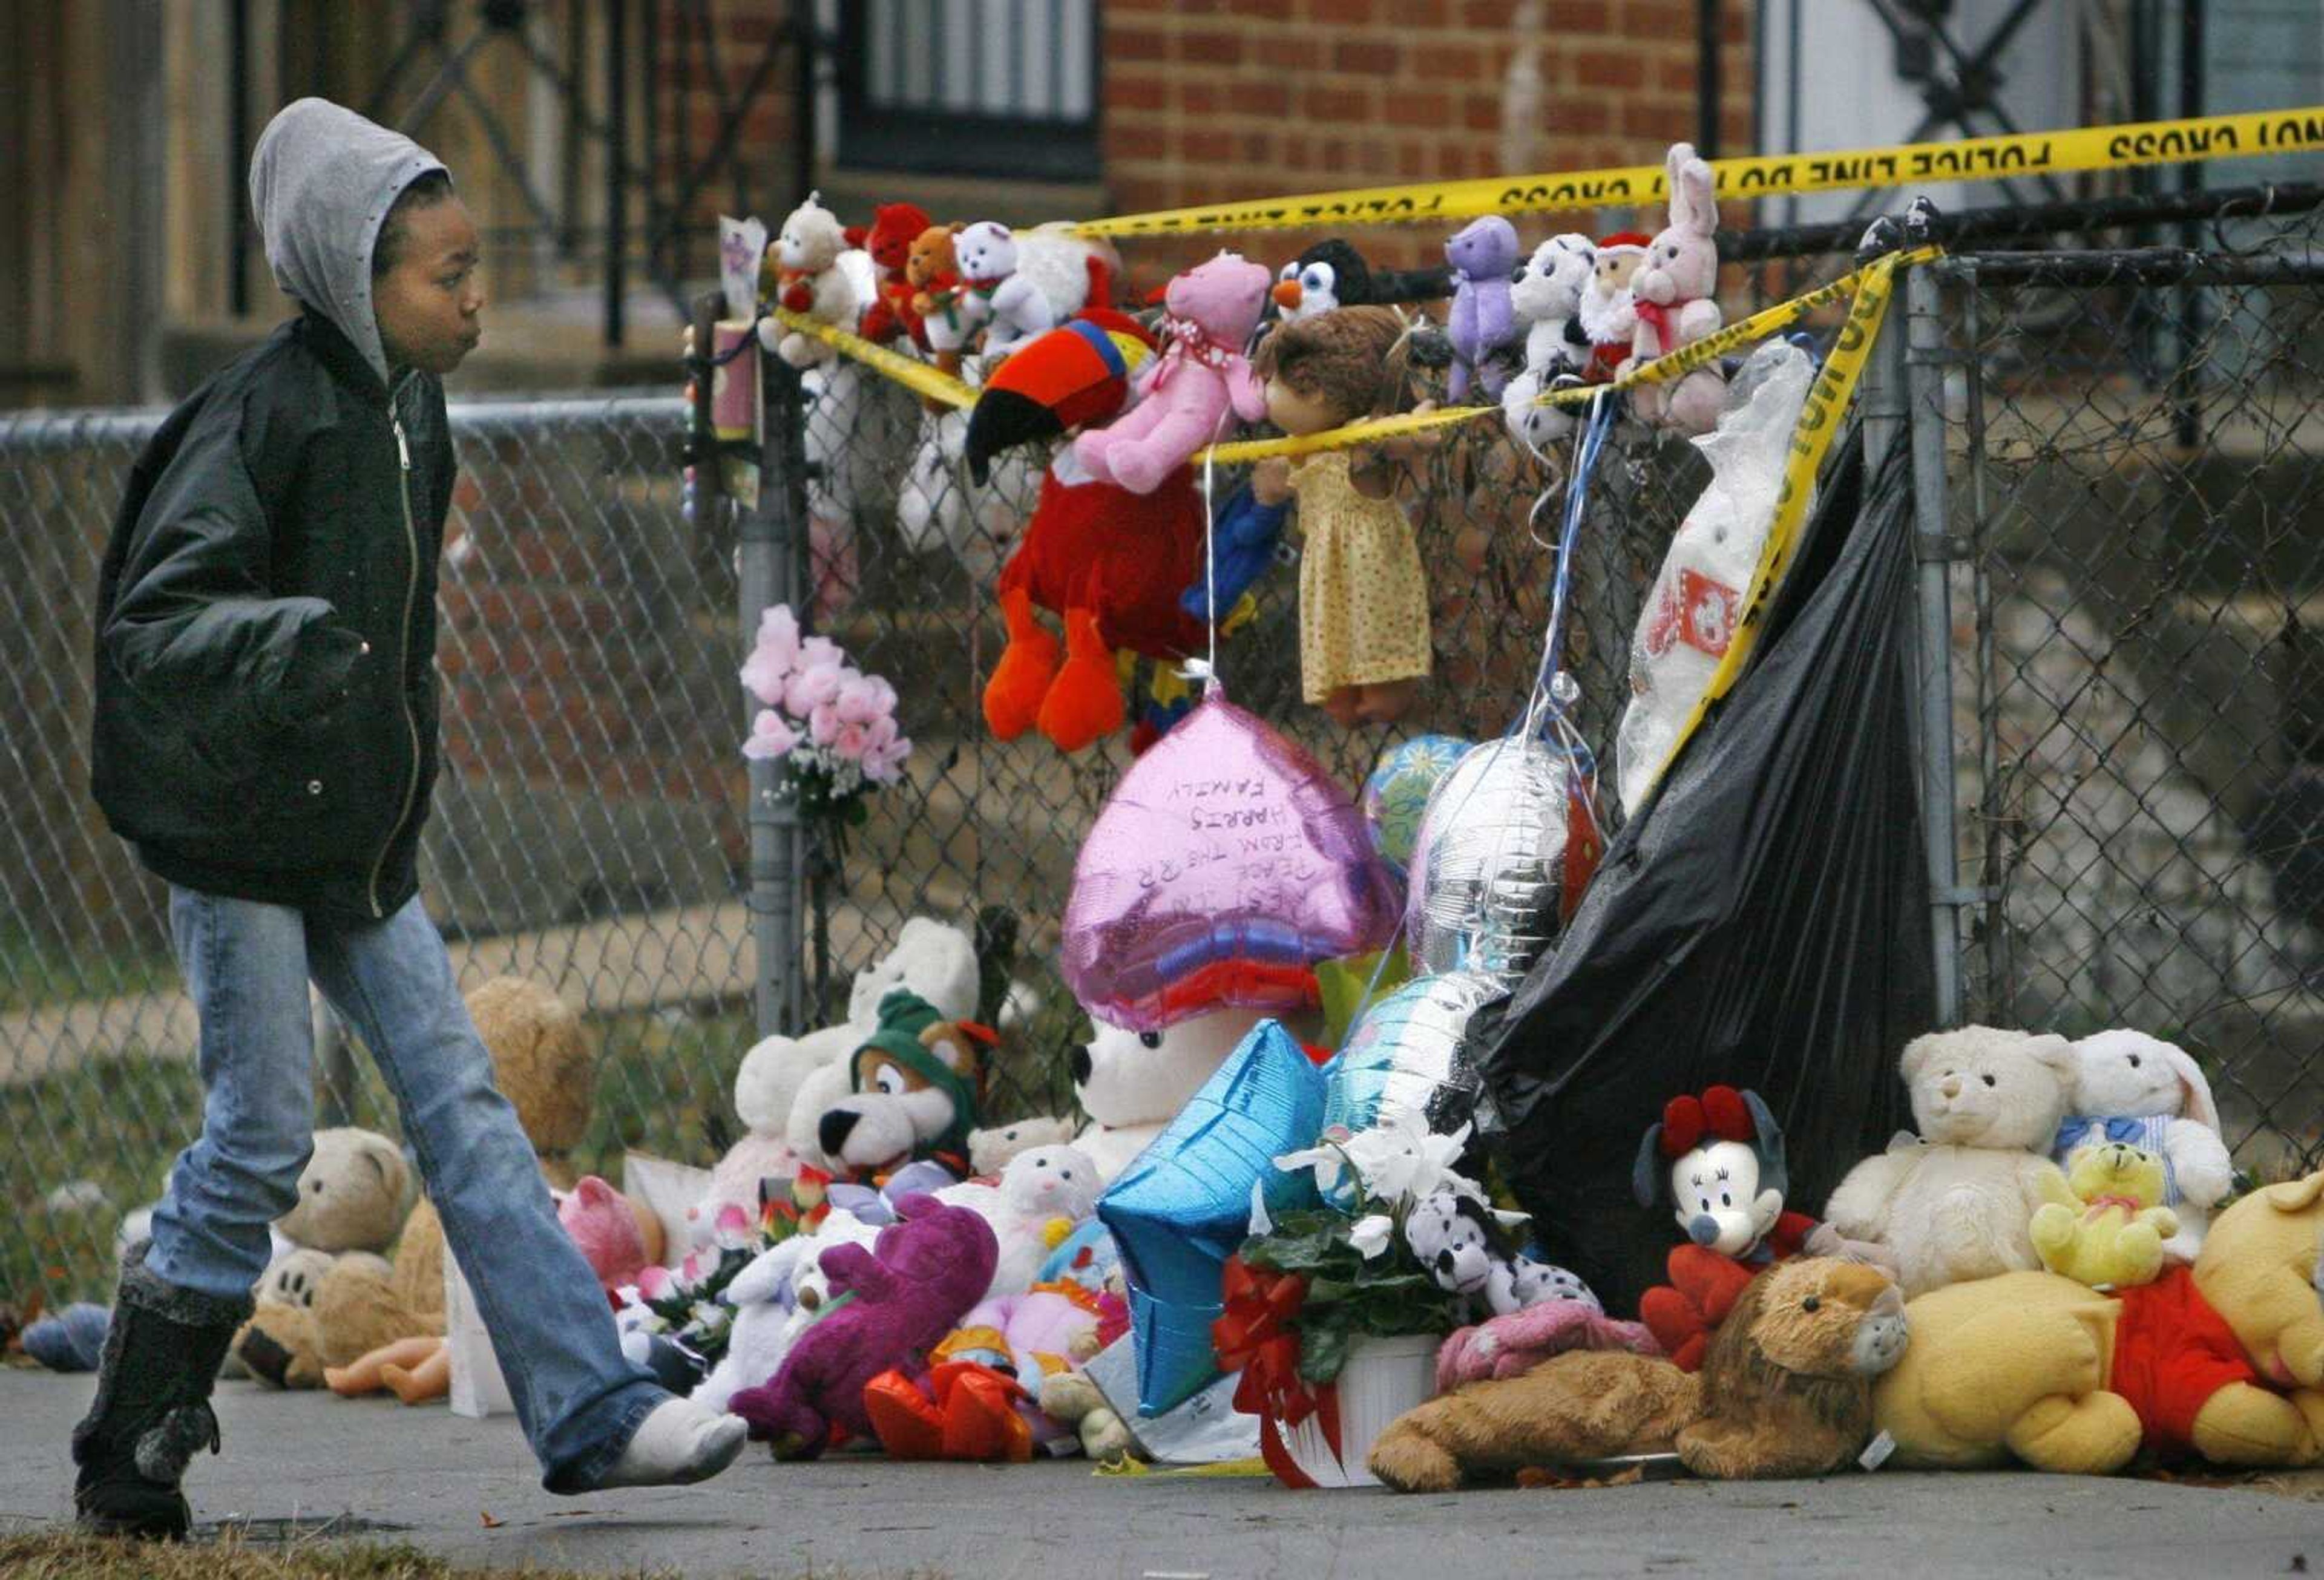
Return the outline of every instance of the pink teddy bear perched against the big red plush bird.
{"type": "Polygon", "coordinates": [[[1109,428],[1074,439],[1074,460],[1099,483],[1153,493],[1188,455],[1220,437],[1232,411],[1267,416],[1267,390],[1243,346],[1260,325],[1274,276],[1264,265],[1220,253],[1169,283],[1162,302],[1162,356],[1132,386],[1141,397],[1109,428]]]}

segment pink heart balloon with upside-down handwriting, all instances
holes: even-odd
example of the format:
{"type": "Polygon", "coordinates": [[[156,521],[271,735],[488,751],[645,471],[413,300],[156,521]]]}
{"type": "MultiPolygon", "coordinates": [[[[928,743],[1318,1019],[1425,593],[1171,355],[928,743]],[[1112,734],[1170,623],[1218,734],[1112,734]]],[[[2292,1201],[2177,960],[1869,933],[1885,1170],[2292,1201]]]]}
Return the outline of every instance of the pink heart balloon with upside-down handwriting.
{"type": "Polygon", "coordinates": [[[1074,862],[1064,981],[1132,1032],[1315,1004],[1313,964],[1385,948],[1397,881],[1346,790],[1213,695],[1139,757],[1074,862]]]}

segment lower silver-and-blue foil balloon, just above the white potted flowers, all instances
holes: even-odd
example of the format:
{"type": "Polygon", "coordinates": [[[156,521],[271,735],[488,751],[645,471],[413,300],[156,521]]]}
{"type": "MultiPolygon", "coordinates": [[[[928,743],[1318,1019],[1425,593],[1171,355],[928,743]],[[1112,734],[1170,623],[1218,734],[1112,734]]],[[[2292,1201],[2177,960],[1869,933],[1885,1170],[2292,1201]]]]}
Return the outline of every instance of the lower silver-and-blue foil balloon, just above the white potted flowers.
{"type": "Polygon", "coordinates": [[[1452,1134],[1476,1118],[1485,1078],[1469,1060],[1469,1015],[1499,992],[1455,971],[1413,978],[1367,1008],[1325,1064],[1325,1129],[1418,1125],[1452,1134]]]}

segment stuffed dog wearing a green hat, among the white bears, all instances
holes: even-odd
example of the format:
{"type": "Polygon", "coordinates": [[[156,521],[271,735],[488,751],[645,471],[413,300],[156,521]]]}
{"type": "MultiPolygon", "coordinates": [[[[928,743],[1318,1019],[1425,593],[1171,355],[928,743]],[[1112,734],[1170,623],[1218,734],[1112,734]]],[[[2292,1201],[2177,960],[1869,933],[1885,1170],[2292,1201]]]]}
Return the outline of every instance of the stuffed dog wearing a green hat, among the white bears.
{"type": "Polygon", "coordinates": [[[974,1020],[946,1020],[911,988],[892,988],[878,1001],[878,1029],[855,1048],[848,1097],[816,1125],[823,1152],[855,1178],[916,1157],[964,1173],[983,1087],[978,1046],[992,1041],[974,1020]]]}

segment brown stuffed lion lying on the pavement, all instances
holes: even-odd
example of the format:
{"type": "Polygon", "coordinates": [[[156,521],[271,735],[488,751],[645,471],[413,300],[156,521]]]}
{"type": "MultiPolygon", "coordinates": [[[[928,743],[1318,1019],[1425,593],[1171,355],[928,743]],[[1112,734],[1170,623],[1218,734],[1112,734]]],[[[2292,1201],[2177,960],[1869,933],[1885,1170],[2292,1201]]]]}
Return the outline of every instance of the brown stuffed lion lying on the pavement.
{"type": "Polygon", "coordinates": [[[1578,1350],[1406,1410],[1371,1448],[1399,1492],[1450,1492],[1520,1471],[1678,1450],[1722,1480],[1822,1475],[1864,1452],[1871,1380],[1906,1348],[1903,1297],[1878,1269],[1778,1262],[1736,1299],[1703,1359],[1578,1350]]]}

